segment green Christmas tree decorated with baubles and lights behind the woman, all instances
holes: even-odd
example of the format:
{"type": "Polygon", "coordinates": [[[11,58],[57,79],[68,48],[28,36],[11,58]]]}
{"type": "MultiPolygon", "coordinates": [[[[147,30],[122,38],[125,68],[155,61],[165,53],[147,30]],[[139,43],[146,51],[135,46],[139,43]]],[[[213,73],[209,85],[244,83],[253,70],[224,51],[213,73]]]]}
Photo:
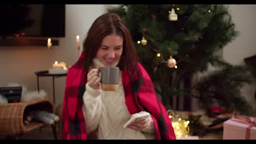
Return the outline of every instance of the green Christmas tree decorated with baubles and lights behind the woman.
{"type": "Polygon", "coordinates": [[[205,109],[217,105],[252,115],[252,106],[240,92],[245,83],[253,82],[248,68],[217,55],[239,35],[226,5],[123,4],[108,12],[126,22],[140,62],[167,108],[173,95],[186,95],[198,98],[205,109]],[[198,73],[205,75],[191,85],[198,73]],[[182,81],[190,84],[181,87],[182,81]]]}

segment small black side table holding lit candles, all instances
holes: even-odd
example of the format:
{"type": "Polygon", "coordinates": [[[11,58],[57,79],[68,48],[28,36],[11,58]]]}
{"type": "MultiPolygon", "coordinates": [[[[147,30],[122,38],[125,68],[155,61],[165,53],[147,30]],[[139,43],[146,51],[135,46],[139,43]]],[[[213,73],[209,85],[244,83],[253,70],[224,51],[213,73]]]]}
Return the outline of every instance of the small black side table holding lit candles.
{"type": "Polygon", "coordinates": [[[37,71],[35,73],[37,75],[37,91],[39,92],[39,77],[40,76],[51,76],[53,77],[53,99],[54,99],[54,104],[55,104],[55,84],[54,84],[54,80],[57,77],[62,77],[62,76],[67,76],[67,74],[49,74],[48,70],[44,70],[44,71],[37,71]]]}

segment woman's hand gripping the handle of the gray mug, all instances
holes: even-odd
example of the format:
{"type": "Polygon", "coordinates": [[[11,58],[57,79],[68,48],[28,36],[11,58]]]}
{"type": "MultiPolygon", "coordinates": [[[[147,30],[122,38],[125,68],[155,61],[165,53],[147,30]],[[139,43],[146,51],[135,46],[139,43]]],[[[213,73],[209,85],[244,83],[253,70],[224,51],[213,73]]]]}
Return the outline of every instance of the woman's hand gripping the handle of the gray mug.
{"type": "Polygon", "coordinates": [[[88,85],[93,89],[99,89],[100,88],[100,76],[98,69],[92,69],[87,74],[87,82],[88,85]]]}

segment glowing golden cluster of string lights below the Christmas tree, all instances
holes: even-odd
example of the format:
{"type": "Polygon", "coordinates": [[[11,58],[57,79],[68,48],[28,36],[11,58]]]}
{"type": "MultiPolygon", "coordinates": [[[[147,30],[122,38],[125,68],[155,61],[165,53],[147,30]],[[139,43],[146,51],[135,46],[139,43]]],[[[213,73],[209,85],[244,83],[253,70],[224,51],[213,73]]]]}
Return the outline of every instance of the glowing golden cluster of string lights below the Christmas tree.
{"type": "Polygon", "coordinates": [[[172,110],[167,111],[169,118],[172,121],[172,127],[177,138],[189,136],[189,121],[179,118],[172,110]]]}

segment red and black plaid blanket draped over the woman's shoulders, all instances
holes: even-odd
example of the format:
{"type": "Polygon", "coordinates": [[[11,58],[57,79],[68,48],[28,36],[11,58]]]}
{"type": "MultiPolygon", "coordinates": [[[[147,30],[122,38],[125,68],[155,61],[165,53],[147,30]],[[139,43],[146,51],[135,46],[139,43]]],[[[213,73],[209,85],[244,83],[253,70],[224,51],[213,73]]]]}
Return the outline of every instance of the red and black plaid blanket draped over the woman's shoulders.
{"type": "MultiPolygon", "coordinates": [[[[83,94],[87,81],[87,70],[83,68],[83,52],[79,61],[69,70],[66,79],[66,89],[62,111],[62,139],[88,139],[82,111],[83,94]]],[[[148,111],[155,124],[155,138],[175,140],[172,122],[165,107],[156,97],[153,83],[147,71],[138,64],[138,75],[129,76],[123,71],[122,79],[125,91],[125,104],[131,114],[148,111]]]]}

